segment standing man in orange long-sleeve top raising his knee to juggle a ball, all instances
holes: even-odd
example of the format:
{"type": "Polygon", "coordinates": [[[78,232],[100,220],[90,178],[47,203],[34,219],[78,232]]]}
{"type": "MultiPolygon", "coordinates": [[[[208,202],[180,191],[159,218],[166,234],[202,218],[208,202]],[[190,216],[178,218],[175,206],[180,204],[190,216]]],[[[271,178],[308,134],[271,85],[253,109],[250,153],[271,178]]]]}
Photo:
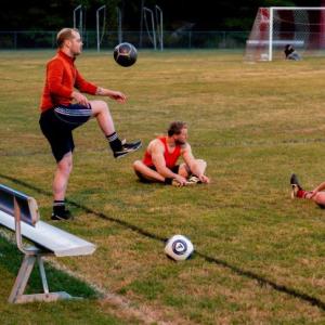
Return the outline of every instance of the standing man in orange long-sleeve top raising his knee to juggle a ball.
{"type": "Polygon", "coordinates": [[[72,218],[65,208],[65,194],[73,168],[73,130],[94,117],[106,136],[115,158],[141,147],[141,141],[127,143],[119,140],[108,106],[104,101],[89,101],[83,93],[107,96],[119,103],[127,98],[119,91],[98,87],[82,78],[75,67],[81,53],[80,34],[63,28],[56,37],[58,51],[47,65],[47,78],[41,100],[40,128],[48,139],[56,160],[53,180],[53,220],[72,218]],[[75,90],[77,89],[77,90],[75,90]]]}

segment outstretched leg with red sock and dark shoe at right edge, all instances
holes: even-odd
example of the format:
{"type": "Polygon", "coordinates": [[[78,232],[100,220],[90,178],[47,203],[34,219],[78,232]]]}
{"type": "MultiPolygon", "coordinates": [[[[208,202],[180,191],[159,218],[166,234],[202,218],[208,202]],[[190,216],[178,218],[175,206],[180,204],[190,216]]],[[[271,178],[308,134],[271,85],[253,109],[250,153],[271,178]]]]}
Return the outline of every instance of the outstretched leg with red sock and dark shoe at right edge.
{"type": "Polygon", "coordinates": [[[292,173],[290,178],[291,185],[291,198],[307,198],[312,199],[321,209],[325,209],[325,182],[321,183],[313,191],[304,191],[299,181],[298,177],[292,173]]]}

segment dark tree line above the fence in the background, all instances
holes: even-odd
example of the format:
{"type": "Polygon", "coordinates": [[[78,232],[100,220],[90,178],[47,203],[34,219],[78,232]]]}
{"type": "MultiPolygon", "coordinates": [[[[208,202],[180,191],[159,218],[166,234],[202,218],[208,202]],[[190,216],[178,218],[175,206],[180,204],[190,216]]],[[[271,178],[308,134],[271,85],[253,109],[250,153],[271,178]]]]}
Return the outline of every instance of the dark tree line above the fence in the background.
{"type": "Polygon", "coordinates": [[[142,8],[158,5],[164,12],[164,28],[174,30],[249,30],[260,6],[320,6],[320,0],[26,0],[1,1],[0,30],[57,30],[73,26],[73,12],[83,9],[83,24],[95,29],[96,10],[106,5],[105,28],[117,27],[117,8],[123,30],[139,30],[142,8]]]}

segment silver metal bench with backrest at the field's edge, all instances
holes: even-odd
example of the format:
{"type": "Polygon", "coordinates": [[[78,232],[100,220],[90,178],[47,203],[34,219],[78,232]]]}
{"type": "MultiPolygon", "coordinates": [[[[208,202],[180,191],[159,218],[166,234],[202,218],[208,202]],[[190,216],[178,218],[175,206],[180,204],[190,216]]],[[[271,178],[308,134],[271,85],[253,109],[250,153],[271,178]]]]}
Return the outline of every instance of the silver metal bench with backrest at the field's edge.
{"type": "Polygon", "coordinates": [[[65,291],[50,292],[42,258],[44,256],[91,255],[95,245],[39,220],[35,198],[0,184],[0,225],[14,231],[24,259],[9,297],[11,303],[55,301],[73,298],[65,291]],[[34,245],[24,246],[23,238],[34,245]],[[24,295],[34,265],[38,262],[43,286],[42,294],[24,295]]]}

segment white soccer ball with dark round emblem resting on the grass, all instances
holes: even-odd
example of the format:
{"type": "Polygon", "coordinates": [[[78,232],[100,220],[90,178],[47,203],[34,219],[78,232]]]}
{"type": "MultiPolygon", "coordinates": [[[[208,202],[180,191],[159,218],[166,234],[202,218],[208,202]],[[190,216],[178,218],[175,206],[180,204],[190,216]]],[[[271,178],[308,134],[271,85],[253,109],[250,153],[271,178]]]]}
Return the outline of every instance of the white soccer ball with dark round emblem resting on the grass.
{"type": "Polygon", "coordinates": [[[183,235],[174,235],[170,237],[165,246],[166,255],[176,261],[188,259],[193,251],[193,244],[183,235]]]}

